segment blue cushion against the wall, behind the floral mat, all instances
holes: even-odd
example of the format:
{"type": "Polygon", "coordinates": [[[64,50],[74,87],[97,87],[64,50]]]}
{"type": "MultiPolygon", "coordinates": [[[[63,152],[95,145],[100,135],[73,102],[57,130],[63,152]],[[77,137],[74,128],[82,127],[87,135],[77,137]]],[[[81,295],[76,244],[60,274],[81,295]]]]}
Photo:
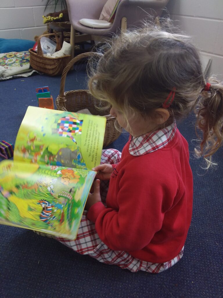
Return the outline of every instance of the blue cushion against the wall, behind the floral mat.
{"type": "Polygon", "coordinates": [[[28,51],[35,44],[35,41],[28,39],[6,39],[0,38],[0,53],[28,51]]]}

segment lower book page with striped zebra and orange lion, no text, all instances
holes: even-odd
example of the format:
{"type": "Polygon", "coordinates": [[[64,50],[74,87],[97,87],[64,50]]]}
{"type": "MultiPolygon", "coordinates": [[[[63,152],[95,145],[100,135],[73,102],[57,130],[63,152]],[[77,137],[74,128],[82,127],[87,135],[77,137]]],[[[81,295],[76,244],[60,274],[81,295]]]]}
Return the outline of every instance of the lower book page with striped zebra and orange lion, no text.
{"type": "Polygon", "coordinates": [[[2,161],[0,224],[75,239],[94,171],[2,161]]]}

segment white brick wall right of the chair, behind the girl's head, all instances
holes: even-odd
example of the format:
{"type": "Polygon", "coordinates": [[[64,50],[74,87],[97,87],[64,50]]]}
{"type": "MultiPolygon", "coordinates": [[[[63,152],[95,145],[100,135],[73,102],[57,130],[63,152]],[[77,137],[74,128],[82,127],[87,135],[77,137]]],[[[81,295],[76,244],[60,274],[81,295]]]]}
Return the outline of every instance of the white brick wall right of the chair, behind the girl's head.
{"type": "Polygon", "coordinates": [[[176,25],[193,37],[202,55],[212,58],[208,74],[223,80],[223,1],[170,0],[167,4],[176,25]]]}

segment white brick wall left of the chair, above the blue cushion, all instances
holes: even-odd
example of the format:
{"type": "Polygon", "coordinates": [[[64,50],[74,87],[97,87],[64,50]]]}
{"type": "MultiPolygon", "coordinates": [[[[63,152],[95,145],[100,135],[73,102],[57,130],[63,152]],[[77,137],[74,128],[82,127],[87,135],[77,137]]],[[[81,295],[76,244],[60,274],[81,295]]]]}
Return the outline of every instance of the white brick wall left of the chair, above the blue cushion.
{"type": "Polygon", "coordinates": [[[54,6],[44,11],[46,1],[0,0],[0,38],[34,40],[35,35],[43,34],[46,25],[42,16],[54,11],[54,6]]]}

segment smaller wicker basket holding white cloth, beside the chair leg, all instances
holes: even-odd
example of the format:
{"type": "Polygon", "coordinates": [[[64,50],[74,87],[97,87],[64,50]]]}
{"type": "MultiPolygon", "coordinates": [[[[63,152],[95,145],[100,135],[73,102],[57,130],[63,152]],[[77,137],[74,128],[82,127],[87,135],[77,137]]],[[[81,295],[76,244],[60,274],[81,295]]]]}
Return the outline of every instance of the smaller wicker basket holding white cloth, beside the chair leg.
{"type": "Polygon", "coordinates": [[[43,72],[47,75],[61,75],[65,66],[71,59],[71,55],[66,55],[58,58],[49,58],[43,55],[42,48],[40,45],[40,38],[43,36],[56,37],[56,51],[61,49],[59,39],[55,34],[44,34],[40,35],[37,40],[37,53],[33,49],[29,49],[30,60],[29,63],[33,69],[43,72]]]}

